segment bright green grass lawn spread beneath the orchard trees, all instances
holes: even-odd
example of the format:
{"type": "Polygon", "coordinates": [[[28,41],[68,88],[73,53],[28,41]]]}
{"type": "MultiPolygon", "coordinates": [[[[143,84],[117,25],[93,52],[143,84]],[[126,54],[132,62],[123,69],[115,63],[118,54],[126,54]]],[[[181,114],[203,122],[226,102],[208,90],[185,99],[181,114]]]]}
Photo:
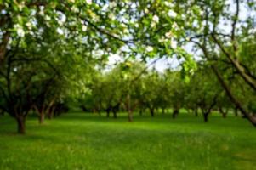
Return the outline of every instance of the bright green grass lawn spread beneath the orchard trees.
{"type": "Polygon", "coordinates": [[[134,116],[116,120],[69,113],[43,126],[28,118],[26,135],[0,116],[0,169],[248,169],[256,160],[256,129],[219,115],[134,116]]]}

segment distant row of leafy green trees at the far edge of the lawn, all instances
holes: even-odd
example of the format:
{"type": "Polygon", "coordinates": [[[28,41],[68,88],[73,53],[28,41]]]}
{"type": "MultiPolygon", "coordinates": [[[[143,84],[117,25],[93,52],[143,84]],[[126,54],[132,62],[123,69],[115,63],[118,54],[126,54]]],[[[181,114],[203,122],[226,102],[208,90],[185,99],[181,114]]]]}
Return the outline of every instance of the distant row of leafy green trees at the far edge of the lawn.
{"type": "MultiPolygon", "coordinates": [[[[219,111],[224,117],[231,110],[235,111],[236,105],[230,102],[223,88],[219,86],[217,77],[208,65],[198,65],[191,79],[185,82],[181,71],[167,70],[163,73],[156,70],[145,71],[146,66],[138,62],[126,62],[117,65],[107,72],[98,71],[94,74],[93,81],[88,84],[88,90],[77,96],[77,102],[83,111],[105,111],[107,117],[113,114],[117,118],[117,111],[128,111],[128,120],[132,121],[134,111],[142,114],[145,110],[155,116],[155,111],[162,113],[172,108],[175,118],[180,109],[193,111],[198,116],[202,113],[205,122],[212,111],[219,111]]],[[[243,101],[250,115],[253,109],[255,96],[247,98],[249,89],[239,88],[237,80],[233,83],[232,90],[243,101]]]]}

